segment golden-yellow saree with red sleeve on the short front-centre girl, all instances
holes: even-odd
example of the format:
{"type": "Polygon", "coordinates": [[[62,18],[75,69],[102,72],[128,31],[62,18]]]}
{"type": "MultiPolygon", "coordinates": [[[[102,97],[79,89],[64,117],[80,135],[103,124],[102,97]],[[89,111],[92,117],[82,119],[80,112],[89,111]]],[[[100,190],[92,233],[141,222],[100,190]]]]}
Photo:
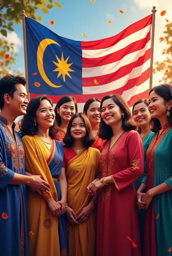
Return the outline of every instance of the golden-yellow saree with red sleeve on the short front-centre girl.
{"type": "MultiPolygon", "coordinates": [[[[72,154],[71,148],[64,149],[66,155],[72,154]],[[71,150],[71,151],[70,151],[71,150]]],[[[98,174],[99,150],[89,147],[66,161],[67,204],[78,216],[89,203],[87,186],[98,174]]],[[[73,225],[67,222],[67,240],[69,256],[95,256],[96,248],[96,211],[86,222],[73,225]]]]}

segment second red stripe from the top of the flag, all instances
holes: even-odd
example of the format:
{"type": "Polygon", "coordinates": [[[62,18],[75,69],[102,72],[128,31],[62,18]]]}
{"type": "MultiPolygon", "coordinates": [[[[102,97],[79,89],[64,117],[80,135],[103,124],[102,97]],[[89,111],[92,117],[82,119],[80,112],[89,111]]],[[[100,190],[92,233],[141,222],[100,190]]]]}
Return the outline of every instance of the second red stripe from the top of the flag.
{"type": "Polygon", "coordinates": [[[147,42],[150,40],[150,34],[151,32],[149,32],[145,38],[133,42],[125,48],[106,56],[100,58],[82,58],[82,68],[94,68],[119,61],[127,54],[143,49],[147,42]]]}

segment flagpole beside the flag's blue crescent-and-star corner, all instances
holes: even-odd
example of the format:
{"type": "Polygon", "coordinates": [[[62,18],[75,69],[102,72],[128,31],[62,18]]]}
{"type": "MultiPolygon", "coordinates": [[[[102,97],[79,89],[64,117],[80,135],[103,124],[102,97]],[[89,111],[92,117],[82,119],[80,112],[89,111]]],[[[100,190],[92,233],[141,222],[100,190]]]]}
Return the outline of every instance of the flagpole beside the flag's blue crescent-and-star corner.
{"type": "Polygon", "coordinates": [[[30,100],[29,96],[29,84],[28,84],[28,60],[27,60],[27,49],[26,49],[26,28],[25,28],[25,11],[21,11],[22,17],[22,28],[23,28],[23,45],[24,45],[24,65],[25,65],[25,77],[27,80],[26,84],[26,92],[28,94],[28,100],[30,100]]]}

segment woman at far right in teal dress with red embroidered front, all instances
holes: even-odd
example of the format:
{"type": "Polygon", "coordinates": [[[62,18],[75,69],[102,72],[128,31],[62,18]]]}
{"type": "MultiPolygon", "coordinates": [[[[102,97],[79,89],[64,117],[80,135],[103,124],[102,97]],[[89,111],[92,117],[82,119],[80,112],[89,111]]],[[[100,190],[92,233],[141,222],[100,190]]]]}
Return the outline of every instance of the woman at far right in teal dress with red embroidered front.
{"type": "Polygon", "coordinates": [[[147,175],[139,191],[146,194],[138,205],[146,208],[144,256],[172,252],[172,85],[149,93],[152,134],[146,153],[147,175]]]}

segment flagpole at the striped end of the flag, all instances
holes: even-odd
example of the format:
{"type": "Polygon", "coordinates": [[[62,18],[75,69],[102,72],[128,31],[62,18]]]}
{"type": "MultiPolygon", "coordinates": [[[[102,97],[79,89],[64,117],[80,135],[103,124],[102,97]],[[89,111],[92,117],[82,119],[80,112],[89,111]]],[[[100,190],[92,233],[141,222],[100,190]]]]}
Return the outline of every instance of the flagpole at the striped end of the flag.
{"type": "Polygon", "coordinates": [[[152,35],[151,35],[151,65],[150,65],[150,83],[149,89],[152,89],[152,80],[153,80],[153,50],[154,50],[154,39],[155,39],[155,13],[156,7],[153,6],[152,9],[152,35]]]}

